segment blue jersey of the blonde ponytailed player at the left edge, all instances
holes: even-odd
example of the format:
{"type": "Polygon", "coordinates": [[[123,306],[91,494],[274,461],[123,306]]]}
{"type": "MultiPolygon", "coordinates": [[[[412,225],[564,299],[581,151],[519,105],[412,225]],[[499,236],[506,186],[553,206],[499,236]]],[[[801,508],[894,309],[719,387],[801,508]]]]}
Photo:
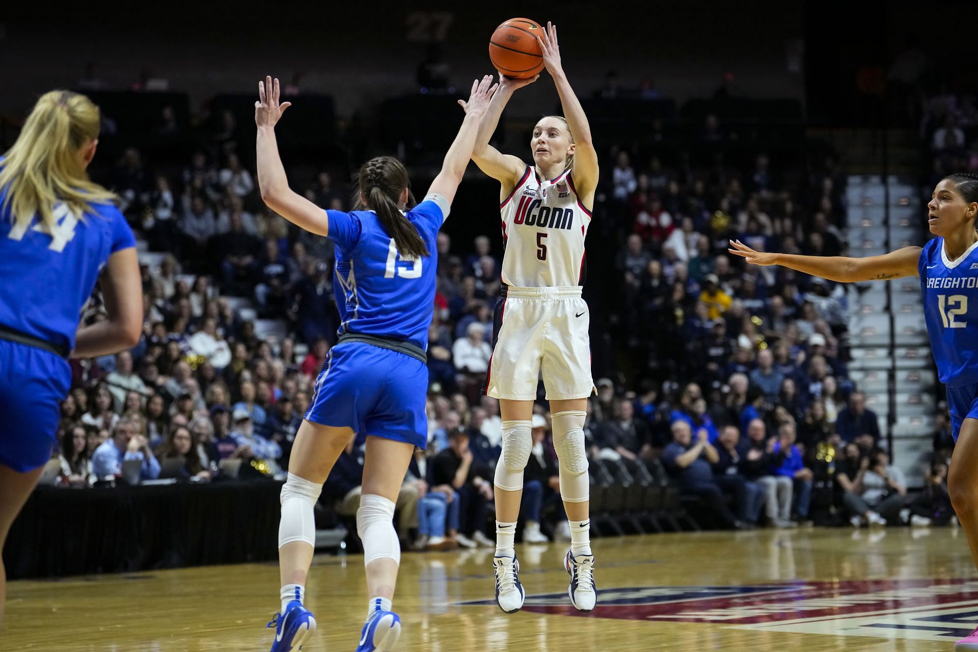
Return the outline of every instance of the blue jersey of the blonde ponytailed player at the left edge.
{"type": "Polygon", "coordinates": [[[73,349],[99,273],[136,239],[111,204],[92,204],[78,216],[58,203],[54,214],[58,228],[48,234],[36,221],[17,228],[9,206],[0,211],[0,325],[73,349]]]}

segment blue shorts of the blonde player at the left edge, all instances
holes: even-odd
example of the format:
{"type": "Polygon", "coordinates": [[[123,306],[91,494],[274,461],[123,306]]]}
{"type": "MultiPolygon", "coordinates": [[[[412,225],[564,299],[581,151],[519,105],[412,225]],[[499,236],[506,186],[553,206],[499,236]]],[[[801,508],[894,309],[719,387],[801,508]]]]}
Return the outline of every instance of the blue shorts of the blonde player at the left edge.
{"type": "Polygon", "coordinates": [[[0,339],[0,464],[23,473],[47,463],[70,384],[67,360],[0,339]]]}

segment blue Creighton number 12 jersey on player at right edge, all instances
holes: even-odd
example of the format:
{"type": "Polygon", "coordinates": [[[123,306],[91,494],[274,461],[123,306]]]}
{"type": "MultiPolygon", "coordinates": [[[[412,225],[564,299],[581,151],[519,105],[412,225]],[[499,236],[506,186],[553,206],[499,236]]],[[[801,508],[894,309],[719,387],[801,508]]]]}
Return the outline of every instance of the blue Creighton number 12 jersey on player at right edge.
{"type": "Polygon", "coordinates": [[[917,270],[941,382],[949,387],[978,383],[978,243],[952,261],[944,239],[931,239],[917,270]]]}

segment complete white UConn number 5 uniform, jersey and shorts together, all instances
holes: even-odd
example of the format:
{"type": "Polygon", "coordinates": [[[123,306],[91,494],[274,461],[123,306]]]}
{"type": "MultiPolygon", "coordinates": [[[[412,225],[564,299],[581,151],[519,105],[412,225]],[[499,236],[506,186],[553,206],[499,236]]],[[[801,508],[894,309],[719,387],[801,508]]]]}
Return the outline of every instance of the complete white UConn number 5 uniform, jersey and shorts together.
{"type": "Polygon", "coordinates": [[[591,212],[581,204],[570,170],[541,181],[527,166],[500,213],[504,286],[484,391],[533,401],[542,373],[548,400],[590,396],[591,315],[581,283],[591,212]]]}

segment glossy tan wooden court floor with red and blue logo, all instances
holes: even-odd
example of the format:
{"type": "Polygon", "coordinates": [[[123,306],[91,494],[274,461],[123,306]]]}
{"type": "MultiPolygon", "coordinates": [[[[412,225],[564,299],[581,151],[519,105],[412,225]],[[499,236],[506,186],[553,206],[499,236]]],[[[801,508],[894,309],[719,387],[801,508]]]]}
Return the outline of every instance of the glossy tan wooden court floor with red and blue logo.
{"type": "MultiPolygon", "coordinates": [[[[597,540],[599,608],[569,606],[564,544],[517,546],[527,600],[495,606],[492,551],[405,554],[398,650],[952,650],[978,625],[978,574],[957,529],[802,529],[597,540]]],[[[362,557],[318,556],[304,652],[356,648],[362,557]]],[[[2,650],[267,650],[274,564],[9,587],[2,650]]]]}

